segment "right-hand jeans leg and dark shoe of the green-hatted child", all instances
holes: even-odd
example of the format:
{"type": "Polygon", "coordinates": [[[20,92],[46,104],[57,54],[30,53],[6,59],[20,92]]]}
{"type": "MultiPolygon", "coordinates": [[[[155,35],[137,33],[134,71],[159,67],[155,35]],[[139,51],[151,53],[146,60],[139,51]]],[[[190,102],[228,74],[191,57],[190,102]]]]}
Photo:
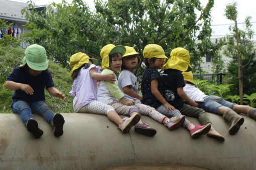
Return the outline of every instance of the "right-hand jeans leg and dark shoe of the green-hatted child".
{"type": "Polygon", "coordinates": [[[56,137],[63,134],[64,117],[60,113],[54,113],[53,110],[44,101],[36,101],[31,104],[32,112],[42,115],[45,120],[53,127],[56,137]]]}

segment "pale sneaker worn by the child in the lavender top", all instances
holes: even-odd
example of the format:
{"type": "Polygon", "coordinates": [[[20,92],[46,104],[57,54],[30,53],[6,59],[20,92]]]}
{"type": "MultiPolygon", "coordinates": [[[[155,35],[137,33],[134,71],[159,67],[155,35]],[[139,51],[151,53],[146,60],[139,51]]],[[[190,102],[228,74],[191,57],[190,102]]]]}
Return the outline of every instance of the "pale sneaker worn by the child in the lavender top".
{"type": "Polygon", "coordinates": [[[123,118],[124,121],[118,126],[123,133],[127,133],[132,128],[132,126],[134,126],[136,123],[140,121],[140,119],[141,119],[141,114],[137,112],[131,117],[124,117],[123,118]]]}

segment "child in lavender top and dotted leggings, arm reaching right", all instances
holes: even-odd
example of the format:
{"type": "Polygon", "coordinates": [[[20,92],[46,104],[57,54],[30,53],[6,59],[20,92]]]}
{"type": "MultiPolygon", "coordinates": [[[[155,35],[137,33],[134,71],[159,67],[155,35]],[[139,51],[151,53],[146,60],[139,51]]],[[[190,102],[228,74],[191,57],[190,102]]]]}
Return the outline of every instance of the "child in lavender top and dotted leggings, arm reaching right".
{"type": "Polygon", "coordinates": [[[97,101],[96,79],[113,83],[115,76],[114,74],[100,74],[100,67],[92,64],[93,61],[95,60],[82,52],[77,52],[70,57],[69,66],[72,68],[70,76],[74,82],[69,93],[74,96],[74,110],[75,112],[107,115],[123,133],[126,133],[140,120],[140,117],[134,114],[134,116],[123,120],[112,106],[97,101]]]}

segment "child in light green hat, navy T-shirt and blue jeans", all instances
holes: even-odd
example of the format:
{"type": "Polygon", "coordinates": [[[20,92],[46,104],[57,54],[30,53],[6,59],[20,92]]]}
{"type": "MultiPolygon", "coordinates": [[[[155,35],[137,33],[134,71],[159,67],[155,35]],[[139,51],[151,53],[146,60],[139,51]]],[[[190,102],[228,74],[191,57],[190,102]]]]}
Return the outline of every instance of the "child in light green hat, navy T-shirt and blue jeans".
{"type": "Polygon", "coordinates": [[[64,117],[54,113],[45,102],[44,88],[56,97],[66,99],[66,96],[54,87],[52,75],[48,68],[45,48],[32,44],[25,50],[23,64],[16,67],[7,77],[6,88],[15,90],[13,94],[12,110],[18,113],[25,126],[36,138],[43,134],[38,127],[32,112],[42,115],[53,127],[54,135],[63,134],[64,117]]]}

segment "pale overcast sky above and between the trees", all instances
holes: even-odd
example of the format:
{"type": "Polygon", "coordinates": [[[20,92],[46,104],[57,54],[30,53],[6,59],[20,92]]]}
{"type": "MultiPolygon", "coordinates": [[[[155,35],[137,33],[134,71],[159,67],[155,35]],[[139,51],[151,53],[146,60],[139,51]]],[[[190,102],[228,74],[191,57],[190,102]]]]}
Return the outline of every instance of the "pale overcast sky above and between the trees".
{"type": "MultiPolygon", "coordinates": [[[[27,2],[28,0],[14,0],[19,2],[27,2]]],[[[55,3],[61,3],[62,0],[32,0],[35,2],[36,5],[44,5],[49,4],[51,2],[55,3]]],[[[71,3],[72,0],[66,0],[68,3],[71,3]]],[[[94,10],[94,3],[93,0],[84,0],[87,2],[89,7],[94,10]]],[[[103,0],[105,1],[105,0],[103,0]]],[[[200,0],[202,4],[205,6],[208,0],[200,0]]],[[[233,24],[234,22],[232,20],[226,19],[224,14],[225,5],[228,3],[232,3],[234,0],[214,0],[214,7],[211,11],[212,16],[212,30],[213,30],[213,38],[214,37],[223,37],[226,34],[229,34],[228,27],[230,24],[233,24]]],[[[238,17],[237,17],[237,23],[238,27],[242,30],[245,28],[244,19],[246,16],[252,16],[251,18],[251,24],[252,29],[256,33],[256,0],[235,0],[237,3],[237,11],[238,11],[238,17]]],[[[254,35],[254,40],[256,41],[256,34],[254,35]]]]}

